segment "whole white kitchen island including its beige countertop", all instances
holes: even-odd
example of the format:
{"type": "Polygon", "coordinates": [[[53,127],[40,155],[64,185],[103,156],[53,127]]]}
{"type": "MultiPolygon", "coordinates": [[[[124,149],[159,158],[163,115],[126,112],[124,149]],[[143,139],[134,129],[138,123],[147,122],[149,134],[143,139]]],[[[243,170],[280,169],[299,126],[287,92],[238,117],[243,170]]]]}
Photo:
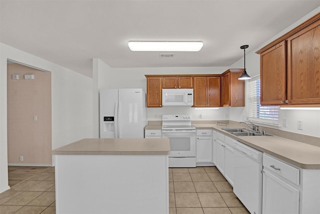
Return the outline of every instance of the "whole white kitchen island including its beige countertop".
{"type": "Polygon", "coordinates": [[[56,213],[168,213],[167,138],[82,139],[54,149],[56,213]]]}

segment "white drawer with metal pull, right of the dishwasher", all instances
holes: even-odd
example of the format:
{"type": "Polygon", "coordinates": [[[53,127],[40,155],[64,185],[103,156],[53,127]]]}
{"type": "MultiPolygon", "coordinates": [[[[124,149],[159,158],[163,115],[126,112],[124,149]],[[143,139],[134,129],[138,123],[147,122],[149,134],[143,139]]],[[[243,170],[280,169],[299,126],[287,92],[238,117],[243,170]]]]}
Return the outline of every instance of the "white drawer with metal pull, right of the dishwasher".
{"type": "Polygon", "coordinates": [[[299,169],[263,153],[263,168],[299,185],[299,169]]]}

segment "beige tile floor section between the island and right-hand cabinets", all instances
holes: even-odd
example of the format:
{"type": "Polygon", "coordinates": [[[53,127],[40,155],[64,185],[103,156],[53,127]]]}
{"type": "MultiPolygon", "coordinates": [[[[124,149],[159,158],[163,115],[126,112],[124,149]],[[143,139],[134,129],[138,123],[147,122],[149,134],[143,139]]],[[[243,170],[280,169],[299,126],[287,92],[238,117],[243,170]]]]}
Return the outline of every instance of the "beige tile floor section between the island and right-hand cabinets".
{"type": "Polygon", "coordinates": [[[249,213],[216,167],[169,168],[170,214],[249,213]]]}

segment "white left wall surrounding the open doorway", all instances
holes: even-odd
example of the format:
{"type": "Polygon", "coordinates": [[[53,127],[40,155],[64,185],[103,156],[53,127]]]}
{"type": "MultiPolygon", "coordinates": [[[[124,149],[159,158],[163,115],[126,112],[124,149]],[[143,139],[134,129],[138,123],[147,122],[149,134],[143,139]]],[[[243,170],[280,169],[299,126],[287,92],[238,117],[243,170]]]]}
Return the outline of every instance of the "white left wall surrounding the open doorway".
{"type": "Polygon", "coordinates": [[[0,192],[8,189],[6,61],[51,72],[52,149],[92,137],[92,79],[0,44],[0,192]]]}

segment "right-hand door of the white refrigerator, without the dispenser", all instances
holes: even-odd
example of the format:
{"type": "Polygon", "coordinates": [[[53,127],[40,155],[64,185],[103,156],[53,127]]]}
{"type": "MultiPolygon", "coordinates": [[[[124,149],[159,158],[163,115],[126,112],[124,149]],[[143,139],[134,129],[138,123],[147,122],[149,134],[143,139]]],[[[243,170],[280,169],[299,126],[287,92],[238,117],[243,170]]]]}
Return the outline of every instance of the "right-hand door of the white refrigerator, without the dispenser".
{"type": "Polygon", "coordinates": [[[118,91],[119,138],[143,138],[145,118],[145,94],[142,89],[118,91]]]}

